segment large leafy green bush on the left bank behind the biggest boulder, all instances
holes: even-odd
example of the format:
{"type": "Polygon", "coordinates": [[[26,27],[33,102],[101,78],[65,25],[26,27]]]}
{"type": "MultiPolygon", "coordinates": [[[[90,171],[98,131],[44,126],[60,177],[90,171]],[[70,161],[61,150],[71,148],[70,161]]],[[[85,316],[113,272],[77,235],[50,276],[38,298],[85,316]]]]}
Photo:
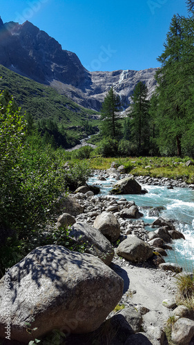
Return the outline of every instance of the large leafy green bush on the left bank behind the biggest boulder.
{"type": "Polygon", "coordinates": [[[13,102],[8,101],[0,110],[1,275],[38,244],[57,241],[72,248],[65,230],[56,230],[49,238],[42,233],[59,195],[85,184],[90,175],[85,161],[65,170],[61,150],[43,146],[30,116],[26,124],[20,110],[13,109],[13,102]]]}

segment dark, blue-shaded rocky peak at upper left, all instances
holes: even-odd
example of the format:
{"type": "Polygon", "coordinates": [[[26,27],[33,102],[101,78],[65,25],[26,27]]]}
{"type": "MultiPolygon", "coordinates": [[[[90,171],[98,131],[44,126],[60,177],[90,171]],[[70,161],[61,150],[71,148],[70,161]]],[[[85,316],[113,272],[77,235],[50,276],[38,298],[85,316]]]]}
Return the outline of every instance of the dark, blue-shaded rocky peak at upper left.
{"type": "Polygon", "coordinates": [[[87,79],[77,55],[29,21],[6,23],[0,41],[0,63],[14,72],[47,84],[56,79],[78,86],[87,79]]]}

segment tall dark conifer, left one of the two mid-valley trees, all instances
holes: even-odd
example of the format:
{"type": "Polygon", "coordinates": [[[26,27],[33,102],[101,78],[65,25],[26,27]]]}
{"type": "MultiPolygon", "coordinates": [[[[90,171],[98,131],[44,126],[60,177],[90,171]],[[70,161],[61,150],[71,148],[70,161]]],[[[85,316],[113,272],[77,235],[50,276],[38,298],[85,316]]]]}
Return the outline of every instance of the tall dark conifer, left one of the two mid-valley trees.
{"type": "Polygon", "coordinates": [[[101,106],[101,132],[103,137],[118,138],[121,132],[118,111],[121,106],[119,96],[113,90],[108,91],[101,106]]]}

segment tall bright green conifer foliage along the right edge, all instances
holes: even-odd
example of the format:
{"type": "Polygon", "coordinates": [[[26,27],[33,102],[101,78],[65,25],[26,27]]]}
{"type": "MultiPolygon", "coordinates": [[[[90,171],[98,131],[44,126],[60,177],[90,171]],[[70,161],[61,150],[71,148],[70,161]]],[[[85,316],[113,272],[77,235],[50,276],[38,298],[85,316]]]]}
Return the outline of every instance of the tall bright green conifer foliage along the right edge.
{"type": "Polygon", "coordinates": [[[157,72],[158,107],[155,124],[159,130],[161,154],[193,155],[193,14],[185,18],[174,15],[158,58],[162,68],[157,72]],[[184,151],[183,151],[184,150],[184,151]]]}

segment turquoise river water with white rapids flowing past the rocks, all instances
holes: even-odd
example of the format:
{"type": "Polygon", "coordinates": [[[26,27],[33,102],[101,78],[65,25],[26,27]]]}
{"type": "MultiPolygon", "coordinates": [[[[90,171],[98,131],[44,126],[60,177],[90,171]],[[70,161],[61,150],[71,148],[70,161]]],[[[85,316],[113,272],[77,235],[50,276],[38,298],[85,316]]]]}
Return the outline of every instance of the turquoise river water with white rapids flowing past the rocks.
{"type": "MultiPolygon", "coordinates": [[[[97,175],[90,177],[89,184],[100,186],[101,194],[108,195],[115,179],[108,178],[106,181],[99,181],[97,175]]],[[[168,189],[166,186],[142,185],[148,193],[144,195],[118,195],[118,199],[125,197],[128,201],[134,200],[139,210],[144,214],[140,219],[144,220],[146,230],[154,231],[151,224],[158,217],[175,220],[175,228],[180,230],[184,239],[173,240],[173,250],[166,250],[166,262],[179,264],[186,271],[194,270],[194,190],[189,188],[168,189]],[[162,206],[162,207],[160,207],[162,206]],[[151,215],[150,207],[162,209],[157,217],[151,215]]]]}

